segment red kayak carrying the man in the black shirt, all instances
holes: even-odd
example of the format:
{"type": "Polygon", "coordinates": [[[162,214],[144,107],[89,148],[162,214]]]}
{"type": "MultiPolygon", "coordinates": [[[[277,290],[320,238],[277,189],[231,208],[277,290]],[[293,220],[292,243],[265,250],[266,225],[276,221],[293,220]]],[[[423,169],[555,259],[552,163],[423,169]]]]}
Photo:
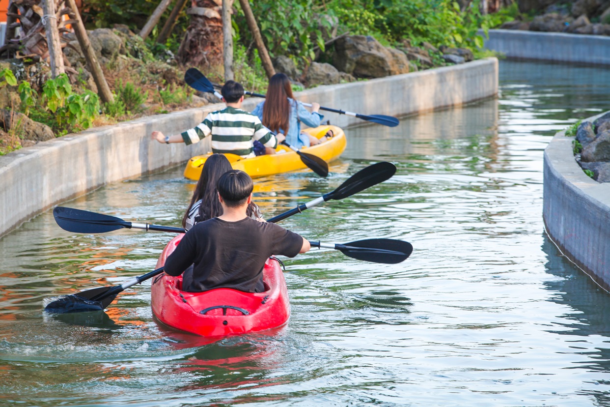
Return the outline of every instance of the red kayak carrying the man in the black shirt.
{"type": "MultiPolygon", "coordinates": [[[[174,237],[159,256],[157,267],[176,249],[184,234],[174,237]]],[[[163,273],[152,280],[152,312],[165,325],[201,336],[228,336],[268,330],[290,317],[290,302],[279,261],[267,259],[265,291],[249,293],[228,288],[182,291],[182,276],[163,273]]]]}

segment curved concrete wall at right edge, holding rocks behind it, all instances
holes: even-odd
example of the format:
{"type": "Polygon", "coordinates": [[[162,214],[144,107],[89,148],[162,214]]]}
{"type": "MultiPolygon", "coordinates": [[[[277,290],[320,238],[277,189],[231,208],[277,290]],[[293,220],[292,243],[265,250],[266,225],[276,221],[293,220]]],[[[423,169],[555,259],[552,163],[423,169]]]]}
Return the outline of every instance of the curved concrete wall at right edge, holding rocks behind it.
{"type": "Polygon", "coordinates": [[[565,256],[608,289],[610,183],[600,184],[584,174],[574,159],[572,140],[558,132],[544,151],[542,217],[565,256]]]}

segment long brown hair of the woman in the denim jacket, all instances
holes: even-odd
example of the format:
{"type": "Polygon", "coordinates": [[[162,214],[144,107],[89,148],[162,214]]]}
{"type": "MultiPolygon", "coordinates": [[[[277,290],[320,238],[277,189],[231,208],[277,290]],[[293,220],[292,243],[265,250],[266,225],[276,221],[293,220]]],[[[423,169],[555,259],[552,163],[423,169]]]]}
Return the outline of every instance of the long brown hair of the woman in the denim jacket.
{"type": "Polygon", "coordinates": [[[279,129],[288,134],[290,127],[290,102],[292,96],[290,79],[283,73],[276,73],[269,79],[267,98],[263,105],[263,124],[273,132],[279,129]]]}

